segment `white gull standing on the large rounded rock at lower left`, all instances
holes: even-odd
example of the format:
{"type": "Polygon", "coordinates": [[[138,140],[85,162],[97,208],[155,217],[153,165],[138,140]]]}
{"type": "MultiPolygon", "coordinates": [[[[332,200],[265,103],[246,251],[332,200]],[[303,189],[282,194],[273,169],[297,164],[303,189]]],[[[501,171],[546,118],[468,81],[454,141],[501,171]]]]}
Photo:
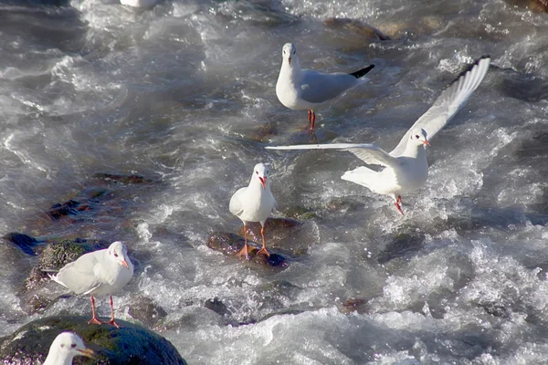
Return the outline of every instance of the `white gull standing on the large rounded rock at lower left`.
{"type": "MultiPolygon", "coordinates": [[[[111,320],[108,322],[120,328],[114,320],[112,293],[125,286],[133,276],[133,265],[128,257],[127,248],[120,241],[112,243],[109,248],[93,251],[61,268],[57,275],[49,275],[52,280],[63,287],[68,287],[76,294],[90,294],[92,318],[89,324],[100,325],[95,317],[94,295],[111,296],[111,320]]],[[[105,322],[106,323],[106,322],[105,322]]]]}

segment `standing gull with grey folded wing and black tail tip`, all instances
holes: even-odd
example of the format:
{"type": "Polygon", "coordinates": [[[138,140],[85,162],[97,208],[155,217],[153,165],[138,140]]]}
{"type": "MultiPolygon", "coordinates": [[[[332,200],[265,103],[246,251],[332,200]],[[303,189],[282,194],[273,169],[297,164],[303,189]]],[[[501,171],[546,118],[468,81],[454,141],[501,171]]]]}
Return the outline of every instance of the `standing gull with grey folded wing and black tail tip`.
{"type": "Polygon", "coordinates": [[[281,55],[276,95],[286,108],[308,110],[311,131],[314,130],[316,122],[314,110],[366,81],[367,78],[362,77],[374,68],[374,65],[369,65],[352,74],[324,74],[311,69],[300,69],[297,48],[292,43],[286,43],[281,48],[281,55]]]}

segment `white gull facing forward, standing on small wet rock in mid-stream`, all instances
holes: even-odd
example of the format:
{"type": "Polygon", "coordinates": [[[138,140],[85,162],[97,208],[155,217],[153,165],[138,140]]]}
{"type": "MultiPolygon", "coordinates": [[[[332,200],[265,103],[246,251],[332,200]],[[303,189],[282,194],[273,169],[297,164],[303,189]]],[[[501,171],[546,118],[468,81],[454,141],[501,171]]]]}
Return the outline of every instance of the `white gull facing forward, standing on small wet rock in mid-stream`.
{"type": "Polygon", "coordinates": [[[274,209],[278,209],[278,203],[270,192],[269,168],[264,163],[258,163],[253,168],[251,181],[247,188],[237,190],[232,198],[228,209],[244,223],[244,248],[237,255],[245,255],[249,258],[248,248],[248,222],[259,222],[261,225],[260,235],[263,246],[258,250],[257,255],[269,255],[265,246],[265,222],[274,209]]]}

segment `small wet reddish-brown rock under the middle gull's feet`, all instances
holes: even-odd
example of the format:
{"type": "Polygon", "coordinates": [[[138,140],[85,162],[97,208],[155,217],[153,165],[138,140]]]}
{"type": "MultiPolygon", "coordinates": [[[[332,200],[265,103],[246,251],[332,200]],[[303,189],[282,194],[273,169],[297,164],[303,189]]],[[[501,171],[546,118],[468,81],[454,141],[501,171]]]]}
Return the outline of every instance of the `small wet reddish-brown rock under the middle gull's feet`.
{"type": "MultiPolygon", "coordinates": [[[[244,243],[245,243],[244,237],[241,237],[239,235],[219,232],[219,233],[210,235],[207,238],[207,242],[205,245],[207,245],[207,247],[211,249],[222,252],[224,255],[237,257],[237,253],[242,248],[244,248],[244,243]]],[[[272,267],[287,266],[286,258],[283,255],[279,255],[279,253],[277,253],[277,250],[275,248],[267,247],[270,253],[269,256],[257,255],[257,252],[260,249],[261,245],[258,245],[249,240],[248,240],[248,245],[249,245],[249,261],[250,262],[257,263],[262,266],[272,266],[272,267]]]]}

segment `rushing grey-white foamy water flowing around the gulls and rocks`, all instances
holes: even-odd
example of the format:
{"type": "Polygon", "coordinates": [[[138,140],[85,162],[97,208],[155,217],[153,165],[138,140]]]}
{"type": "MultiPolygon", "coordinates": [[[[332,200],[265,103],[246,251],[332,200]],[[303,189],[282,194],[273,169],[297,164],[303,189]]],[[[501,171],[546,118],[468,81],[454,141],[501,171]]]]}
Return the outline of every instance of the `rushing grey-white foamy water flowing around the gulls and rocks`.
{"type": "MultiPolygon", "coordinates": [[[[116,310],[130,318],[132,297],[152,298],[168,313],[160,333],[193,364],[545,363],[547,44],[548,14],[502,0],[3,1],[1,231],[127,242],[137,267],[116,310]],[[263,148],[311,141],[306,111],[276,98],[286,42],[303,68],[375,65],[317,111],[316,137],[386,150],[463,64],[491,55],[432,139],[429,180],[404,197],[405,216],[340,179],[361,164],[350,153],[263,148]],[[240,229],[228,201],[258,162],[270,163],[278,216],[304,221],[306,254],[284,270],[205,245],[240,229]],[[47,218],[97,173],[148,183],[111,183],[110,203],[47,218]],[[224,315],[204,307],[213,298],[224,315]]],[[[17,293],[36,258],[9,245],[0,255],[0,335],[90,312],[89,298],[62,297],[26,316],[17,293]]]]}

